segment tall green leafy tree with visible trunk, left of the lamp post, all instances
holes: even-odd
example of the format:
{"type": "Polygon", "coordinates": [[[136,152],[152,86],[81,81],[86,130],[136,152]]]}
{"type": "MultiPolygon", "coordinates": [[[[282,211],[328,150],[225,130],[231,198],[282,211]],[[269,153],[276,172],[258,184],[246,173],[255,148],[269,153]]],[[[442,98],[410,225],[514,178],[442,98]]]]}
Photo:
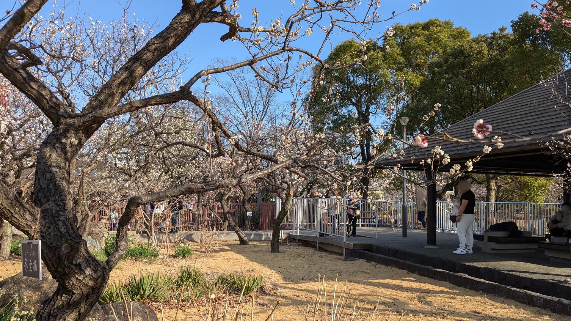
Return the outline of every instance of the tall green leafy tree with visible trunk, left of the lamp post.
{"type": "MultiPolygon", "coordinates": [[[[331,65],[352,65],[349,69],[327,71],[315,89],[315,107],[310,110],[316,128],[343,131],[351,126],[374,123],[375,116],[385,113],[386,102],[394,93],[392,75],[387,68],[384,50],[375,42],[361,43],[353,39],[339,43],[327,58],[331,65]],[[359,61],[357,64],[355,62],[359,61]]],[[[319,70],[315,69],[315,77],[319,70]]],[[[359,138],[345,141],[347,147],[356,143],[358,153],[353,160],[367,164],[375,159],[381,146],[373,142],[371,131],[359,133],[359,138]]],[[[367,197],[368,169],[361,178],[363,196],[367,197]]]]}

